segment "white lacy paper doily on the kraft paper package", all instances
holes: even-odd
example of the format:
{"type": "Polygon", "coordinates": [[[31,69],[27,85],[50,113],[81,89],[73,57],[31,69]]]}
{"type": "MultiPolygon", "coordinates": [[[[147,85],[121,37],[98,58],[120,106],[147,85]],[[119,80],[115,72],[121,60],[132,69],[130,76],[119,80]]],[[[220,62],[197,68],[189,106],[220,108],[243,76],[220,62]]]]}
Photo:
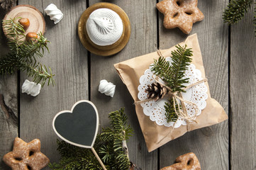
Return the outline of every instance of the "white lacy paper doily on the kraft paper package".
{"type": "MultiPolygon", "coordinates": [[[[166,60],[172,62],[171,57],[167,57],[166,60]]],[[[201,77],[200,70],[196,69],[194,64],[189,65],[184,75],[184,79],[189,78],[189,83],[184,84],[185,86],[189,86],[189,84],[194,84],[197,81],[203,79],[201,77]]],[[[148,89],[148,85],[155,82],[155,79],[153,77],[155,77],[155,75],[150,71],[150,68],[146,69],[144,75],[140,77],[140,85],[138,86],[138,98],[140,99],[140,101],[144,101],[148,98],[148,92],[146,91],[146,89],[148,89]]],[[[207,90],[207,86],[203,82],[201,84],[191,87],[190,89],[187,89],[186,93],[182,93],[184,100],[196,103],[196,105],[199,107],[199,113],[197,115],[200,115],[201,111],[206,108],[206,99],[208,98],[207,90]]],[[[173,127],[174,122],[167,123],[165,116],[164,106],[165,102],[168,102],[168,98],[169,97],[166,96],[165,98],[162,98],[158,101],[147,101],[145,103],[140,103],[140,106],[143,107],[143,113],[150,116],[150,120],[155,121],[157,125],[173,127]]],[[[189,116],[195,115],[195,110],[191,105],[185,103],[185,106],[187,108],[187,113],[189,116]]],[[[174,128],[179,128],[181,125],[187,125],[187,122],[182,118],[178,118],[177,122],[174,125],[174,128]]]]}

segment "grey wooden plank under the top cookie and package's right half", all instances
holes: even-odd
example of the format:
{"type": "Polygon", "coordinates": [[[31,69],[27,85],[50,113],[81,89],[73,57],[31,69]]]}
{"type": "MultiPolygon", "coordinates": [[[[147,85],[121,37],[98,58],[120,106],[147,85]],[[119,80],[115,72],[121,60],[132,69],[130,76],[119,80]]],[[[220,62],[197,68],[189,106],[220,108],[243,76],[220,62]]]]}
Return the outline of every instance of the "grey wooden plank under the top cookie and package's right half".
{"type": "MultiPolygon", "coordinates": [[[[190,34],[197,33],[210,86],[215,98],[228,113],[228,26],[222,12],[228,1],[199,1],[204,21],[194,23],[190,34]]],[[[187,38],[179,28],[167,30],[160,13],[160,49],[176,45],[187,38]]],[[[201,169],[228,169],[228,121],[201,130],[187,132],[160,148],[160,168],[169,166],[179,155],[194,152],[201,169]]]]}

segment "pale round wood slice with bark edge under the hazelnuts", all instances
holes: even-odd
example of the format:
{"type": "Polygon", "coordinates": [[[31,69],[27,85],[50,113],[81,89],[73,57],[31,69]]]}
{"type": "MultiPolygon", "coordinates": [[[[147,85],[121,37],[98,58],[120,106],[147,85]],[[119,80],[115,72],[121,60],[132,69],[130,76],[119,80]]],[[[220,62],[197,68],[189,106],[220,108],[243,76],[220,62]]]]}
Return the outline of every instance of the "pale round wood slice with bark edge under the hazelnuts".
{"type": "MultiPolygon", "coordinates": [[[[10,18],[28,18],[30,21],[30,26],[24,33],[25,35],[29,32],[34,33],[45,33],[45,18],[43,18],[43,14],[35,8],[35,6],[29,5],[19,5],[11,8],[11,11],[4,16],[4,20],[9,20],[10,18]]],[[[18,21],[18,19],[17,19],[18,21]]],[[[3,29],[4,30],[4,29],[3,29]]],[[[6,31],[4,30],[4,34],[6,35],[6,31]]]]}

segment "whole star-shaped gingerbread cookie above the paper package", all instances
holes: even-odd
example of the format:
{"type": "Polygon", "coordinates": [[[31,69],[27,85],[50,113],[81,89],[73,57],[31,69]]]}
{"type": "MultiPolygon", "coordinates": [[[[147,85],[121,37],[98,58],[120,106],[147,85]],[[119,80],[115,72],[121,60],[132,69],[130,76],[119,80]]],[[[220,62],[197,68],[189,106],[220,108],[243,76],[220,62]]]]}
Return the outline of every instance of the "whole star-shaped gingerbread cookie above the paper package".
{"type": "Polygon", "coordinates": [[[157,9],[165,15],[165,28],[178,27],[186,34],[190,33],[193,23],[204,19],[197,0],[164,0],[157,3],[157,9]]]}

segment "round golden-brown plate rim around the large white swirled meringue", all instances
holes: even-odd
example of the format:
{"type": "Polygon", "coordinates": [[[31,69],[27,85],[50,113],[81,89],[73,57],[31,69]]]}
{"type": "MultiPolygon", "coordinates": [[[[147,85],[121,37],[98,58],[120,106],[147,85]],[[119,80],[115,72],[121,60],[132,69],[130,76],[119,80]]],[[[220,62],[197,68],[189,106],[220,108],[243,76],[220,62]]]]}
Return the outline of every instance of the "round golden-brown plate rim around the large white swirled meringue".
{"type": "Polygon", "coordinates": [[[128,40],[130,39],[130,20],[128,16],[126,15],[126,12],[123,11],[122,8],[119,6],[116,6],[115,4],[107,3],[107,2],[101,2],[94,4],[87,8],[87,10],[82,13],[82,16],[79,19],[78,23],[78,35],[79,38],[84,45],[84,47],[89,50],[90,52],[94,53],[95,55],[101,55],[101,56],[109,56],[114,55],[117,52],[120,52],[123,47],[126,46],[128,40]],[[92,42],[87,34],[86,24],[87,19],[89,18],[90,14],[95,11],[98,8],[109,8],[120,16],[120,18],[123,21],[123,34],[121,35],[121,38],[113,45],[106,45],[106,46],[100,46],[94,44],[92,42]]]}

